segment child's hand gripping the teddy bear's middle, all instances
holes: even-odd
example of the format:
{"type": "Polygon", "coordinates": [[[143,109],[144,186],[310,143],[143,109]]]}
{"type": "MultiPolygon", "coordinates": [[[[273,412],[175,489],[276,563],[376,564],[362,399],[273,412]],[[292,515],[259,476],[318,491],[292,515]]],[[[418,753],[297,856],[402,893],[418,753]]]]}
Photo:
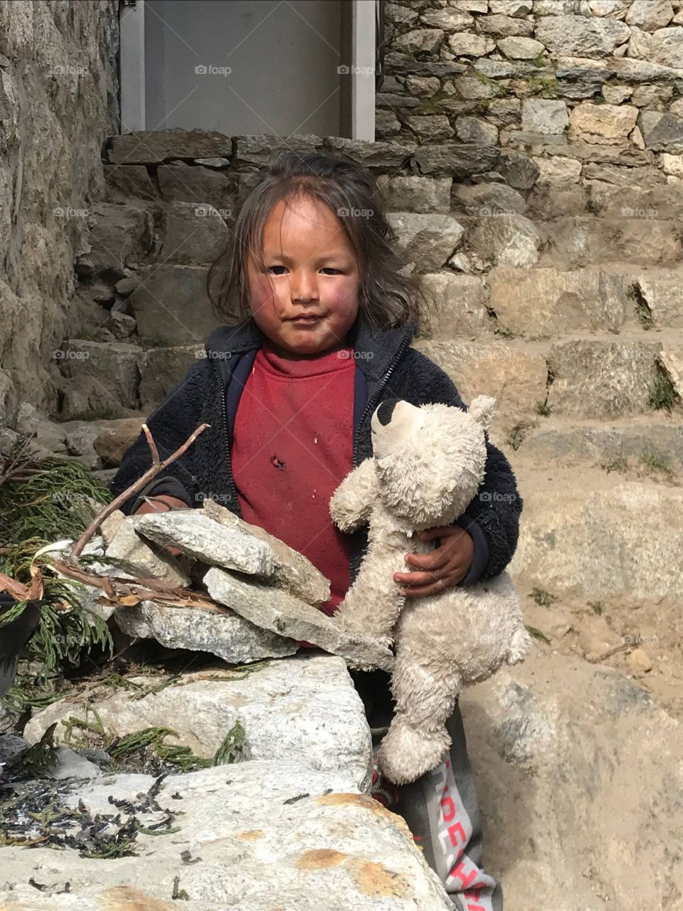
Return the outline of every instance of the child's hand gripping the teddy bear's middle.
{"type": "Polygon", "coordinates": [[[428,528],[418,535],[421,541],[441,538],[441,544],[428,554],[406,554],[406,562],[421,572],[397,572],[394,582],[403,583],[408,598],[436,595],[462,581],[472,566],[474,541],[460,527],[428,528]]]}

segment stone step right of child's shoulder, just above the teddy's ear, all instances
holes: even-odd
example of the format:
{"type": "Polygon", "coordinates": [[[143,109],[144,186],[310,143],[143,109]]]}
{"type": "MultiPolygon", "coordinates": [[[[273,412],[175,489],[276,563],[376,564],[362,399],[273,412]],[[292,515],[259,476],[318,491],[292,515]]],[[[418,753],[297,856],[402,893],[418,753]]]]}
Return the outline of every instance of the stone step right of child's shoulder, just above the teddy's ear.
{"type": "Polygon", "coordinates": [[[448,374],[465,402],[497,400],[498,438],[534,425],[549,409],[569,420],[683,414],[683,331],[575,333],[550,340],[419,339],[414,347],[448,374]],[[680,369],[678,369],[680,368],[680,369]]]}

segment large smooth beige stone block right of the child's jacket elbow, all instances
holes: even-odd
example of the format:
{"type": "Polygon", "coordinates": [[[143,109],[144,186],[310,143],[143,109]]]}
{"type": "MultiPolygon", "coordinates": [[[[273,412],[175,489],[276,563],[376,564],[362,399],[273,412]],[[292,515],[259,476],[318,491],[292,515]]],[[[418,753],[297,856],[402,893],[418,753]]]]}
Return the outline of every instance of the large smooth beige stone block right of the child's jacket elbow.
{"type": "Polygon", "coordinates": [[[556,595],[682,600],[683,489],[514,459],[523,509],[510,572],[556,595]]]}

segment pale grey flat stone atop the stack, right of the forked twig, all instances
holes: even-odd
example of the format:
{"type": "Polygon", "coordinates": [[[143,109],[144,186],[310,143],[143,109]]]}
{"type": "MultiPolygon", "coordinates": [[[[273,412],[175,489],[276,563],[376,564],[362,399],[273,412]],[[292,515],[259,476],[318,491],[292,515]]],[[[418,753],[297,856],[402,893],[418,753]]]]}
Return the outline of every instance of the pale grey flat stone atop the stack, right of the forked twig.
{"type": "Polygon", "coordinates": [[[272,576],[273,552],[265,541],[220,525],[198,509],[148,513],[138,520],[136,530],[157,544],[179,548],[209,566],[238,569],[266,578],[272,576]]]}

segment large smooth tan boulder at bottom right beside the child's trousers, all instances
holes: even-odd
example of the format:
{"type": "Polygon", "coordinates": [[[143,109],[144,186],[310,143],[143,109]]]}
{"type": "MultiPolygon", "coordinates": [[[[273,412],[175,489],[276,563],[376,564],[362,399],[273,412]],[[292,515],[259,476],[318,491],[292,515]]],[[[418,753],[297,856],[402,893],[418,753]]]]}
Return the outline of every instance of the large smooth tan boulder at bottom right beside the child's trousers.
{"type": "Polygon", "coordinates": [[[680,904],[683,730],[646,692],[544,650],[466,690],[461,708],[506,906],[680,904]]]}

